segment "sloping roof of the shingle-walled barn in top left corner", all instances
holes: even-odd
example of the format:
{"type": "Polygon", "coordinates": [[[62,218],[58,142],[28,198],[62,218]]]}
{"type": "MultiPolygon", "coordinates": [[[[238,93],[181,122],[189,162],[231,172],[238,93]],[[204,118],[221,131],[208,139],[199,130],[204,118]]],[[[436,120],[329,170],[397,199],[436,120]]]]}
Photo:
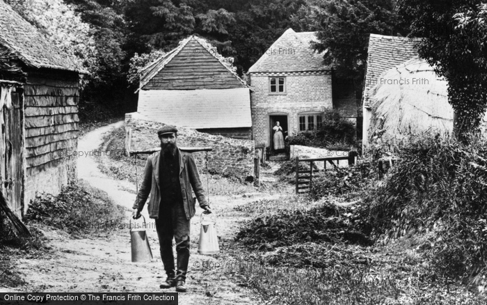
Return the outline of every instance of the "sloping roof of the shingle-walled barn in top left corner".
{"type": "Polygon", "coordinates": [[[3,0],[0,0],[0,45],[34,68],[81,72],[72,56],[52,45],[49,38],[3,0]]]}

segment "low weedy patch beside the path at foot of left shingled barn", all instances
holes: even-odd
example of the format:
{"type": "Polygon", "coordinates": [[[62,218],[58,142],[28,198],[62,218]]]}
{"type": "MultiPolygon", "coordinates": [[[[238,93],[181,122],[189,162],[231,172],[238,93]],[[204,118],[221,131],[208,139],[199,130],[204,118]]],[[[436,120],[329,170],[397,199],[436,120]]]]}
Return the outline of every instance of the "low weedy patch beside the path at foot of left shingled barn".
{"type": "Polygon", "coordinates": [[[82,180],[63,187],[58,196],[37,196],[25,215],[27,223],[40,222],[74,236],[109,232],[124,218],[124,208],[82,180]]]}

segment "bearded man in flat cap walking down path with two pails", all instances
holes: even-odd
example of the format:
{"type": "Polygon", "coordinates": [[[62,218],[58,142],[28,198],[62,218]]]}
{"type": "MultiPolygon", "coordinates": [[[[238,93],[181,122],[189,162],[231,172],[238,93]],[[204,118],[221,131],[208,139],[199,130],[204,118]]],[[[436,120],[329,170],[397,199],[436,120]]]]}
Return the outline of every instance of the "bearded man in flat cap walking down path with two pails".
{"type": "Polygon", "coordinates": [[[176,287],[186,292],[186,272],[189,263],[189,232],[191,217],[195,214],[195,199],[209,214],[211,210],[200,181],[198,168],[191,153],[177,148],[177,129],[165,125],[157,131],[161,151],[147,159],[143,182],[134,203],[132,217],[141,217],[145,201],[150,194],[149,217],[155,219],[161,259],[167,279],[161,288],[176,287]],[[175,269],[173,237],[176,242],[175,269]]]}

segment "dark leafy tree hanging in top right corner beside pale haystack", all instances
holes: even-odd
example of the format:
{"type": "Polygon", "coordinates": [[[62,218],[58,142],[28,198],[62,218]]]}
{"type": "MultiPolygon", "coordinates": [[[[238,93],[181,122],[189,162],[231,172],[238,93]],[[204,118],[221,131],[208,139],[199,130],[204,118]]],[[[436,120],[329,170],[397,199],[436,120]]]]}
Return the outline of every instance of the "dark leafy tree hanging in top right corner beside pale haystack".
{"type": "Polygon", "coordinates": [[[468,141],[487,107],[485,4],[481,0],[399,0],[399,14],[422,58],[448,81],[454,134],[468,141]]]}

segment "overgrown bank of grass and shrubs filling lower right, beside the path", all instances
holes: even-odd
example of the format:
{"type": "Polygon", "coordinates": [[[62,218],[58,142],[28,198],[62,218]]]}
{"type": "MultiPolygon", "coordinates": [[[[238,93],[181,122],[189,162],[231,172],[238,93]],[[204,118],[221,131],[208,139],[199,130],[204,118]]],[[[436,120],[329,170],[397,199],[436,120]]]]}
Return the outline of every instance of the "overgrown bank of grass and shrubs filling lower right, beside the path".
{"type": "Polygon", "coordinates": [[[236,238],[255,262],[241,272],[269,302],[485,304],[487,141],[410,139],[372,155],[386,148],[399,163],[383,180],[362,160],[315,176],[317,203],[237,207],[253,215],[236,238]]]}

